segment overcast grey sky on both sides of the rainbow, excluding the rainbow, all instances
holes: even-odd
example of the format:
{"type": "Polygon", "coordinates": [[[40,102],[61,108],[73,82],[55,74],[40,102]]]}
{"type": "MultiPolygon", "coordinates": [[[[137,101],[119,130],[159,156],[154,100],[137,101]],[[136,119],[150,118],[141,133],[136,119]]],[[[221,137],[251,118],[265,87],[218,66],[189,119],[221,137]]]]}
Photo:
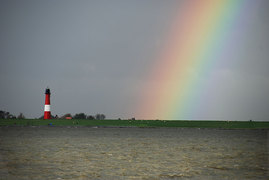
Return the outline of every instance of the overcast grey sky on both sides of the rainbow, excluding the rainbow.
{"type": "MultiPolygon", "coordinates": [[[[212,72],[218,89],[210,92],[211,105],[191,118],[269,120],[269,1],[258,2],[243,24],[249,31],[233,52],[236,62],[212,72]]],[[[0,0],[0,109],[40,117],[49,86],[53,115],[136,117],[178,6],[176,0],[0,0]]]]}

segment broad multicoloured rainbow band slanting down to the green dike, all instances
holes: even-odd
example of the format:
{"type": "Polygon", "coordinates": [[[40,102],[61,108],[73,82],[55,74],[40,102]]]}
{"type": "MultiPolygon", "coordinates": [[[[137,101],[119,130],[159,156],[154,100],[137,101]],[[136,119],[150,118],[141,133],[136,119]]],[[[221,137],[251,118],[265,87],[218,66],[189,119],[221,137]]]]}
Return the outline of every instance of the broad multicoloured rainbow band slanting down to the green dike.
{"type": "Polygon", "coordinates": [[[251,0],[179,1],[178,13],[164,46],[142,87],[140,119],[192,119],[200,101],[204,79],[227,53],[240,18],[251,0]]]}

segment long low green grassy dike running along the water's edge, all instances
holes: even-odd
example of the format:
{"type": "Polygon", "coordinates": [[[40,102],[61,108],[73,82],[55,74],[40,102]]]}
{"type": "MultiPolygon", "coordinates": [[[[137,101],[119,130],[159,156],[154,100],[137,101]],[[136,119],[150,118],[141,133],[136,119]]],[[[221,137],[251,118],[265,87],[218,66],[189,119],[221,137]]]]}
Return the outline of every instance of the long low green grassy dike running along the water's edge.
{"type": "Polygon", "coordinates": [[[269,129],[269,121],[193,120],[84,120],[84,119],[0,119],[0,126],[89,126],[89,127],[186,127],[222,129],[269,129]]]}

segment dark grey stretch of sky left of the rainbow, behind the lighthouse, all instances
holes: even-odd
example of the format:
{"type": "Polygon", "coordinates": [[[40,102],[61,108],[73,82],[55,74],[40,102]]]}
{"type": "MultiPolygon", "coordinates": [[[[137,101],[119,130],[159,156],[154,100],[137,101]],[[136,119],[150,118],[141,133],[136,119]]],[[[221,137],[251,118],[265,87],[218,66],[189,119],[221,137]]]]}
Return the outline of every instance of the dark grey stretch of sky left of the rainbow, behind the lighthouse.
{"type": "Polygon", "coordinates": [[[1,109],[42,115],[48,85],[54,114],[131,116],[173,4],[2,1],[1,109]]]}

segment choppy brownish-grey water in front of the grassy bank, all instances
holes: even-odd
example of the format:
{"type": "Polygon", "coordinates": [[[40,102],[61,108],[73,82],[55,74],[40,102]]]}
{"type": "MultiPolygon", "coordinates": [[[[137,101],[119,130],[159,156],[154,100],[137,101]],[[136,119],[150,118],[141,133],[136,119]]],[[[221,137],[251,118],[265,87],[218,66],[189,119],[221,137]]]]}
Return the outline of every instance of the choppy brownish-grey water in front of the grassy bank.
{"type": "Polygon", "coordinates": [[[0,127],[0,179],[268,179],[268,130],[0,127]]]}

